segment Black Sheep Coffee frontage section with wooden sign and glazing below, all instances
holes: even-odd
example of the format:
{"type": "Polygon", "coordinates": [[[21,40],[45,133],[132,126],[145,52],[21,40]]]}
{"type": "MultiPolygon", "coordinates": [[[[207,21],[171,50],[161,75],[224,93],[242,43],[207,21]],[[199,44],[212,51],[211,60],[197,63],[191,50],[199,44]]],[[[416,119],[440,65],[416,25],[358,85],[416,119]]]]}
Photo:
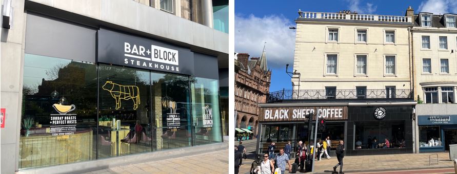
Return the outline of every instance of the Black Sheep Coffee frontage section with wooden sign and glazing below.
{"type": "MultiPolygon", "coordinates": [[[[257,154],[266,153],[270,142],[277,146],[275,153],[284,148],[288,141],[291,141],[292,151],[296,151],[296,144],[299,141],[308,144],[308,137],[314,133],[314,126],[311,130],[308,127],[308,119],[305,117],[310,113],[319,119],[326,120],[324,132],[317,132],[317,139],[329,137],[332,144],[331,150],[338,145],[339,140],[346,139],[346,122],[348,119],[347,106],[294,106],[277,107],[274,105],[261,105],[259,115],[259,139],[257,139],[257,154]]],[[[292,153],[294,154],[294,153],[292,153]]]]}

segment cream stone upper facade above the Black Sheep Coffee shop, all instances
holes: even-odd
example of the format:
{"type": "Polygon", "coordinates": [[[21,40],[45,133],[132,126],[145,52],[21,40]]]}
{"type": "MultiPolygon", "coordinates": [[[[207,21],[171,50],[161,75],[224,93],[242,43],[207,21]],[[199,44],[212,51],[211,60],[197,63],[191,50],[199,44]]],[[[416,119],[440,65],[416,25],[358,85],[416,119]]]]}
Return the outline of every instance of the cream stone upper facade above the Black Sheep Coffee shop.
{"type": "MultiPolygon", "coordinates": [[[[412,89],[411,16],[299,12],[293,90],[412,89]]],[[[387,91],[387,92],[386,92],[387,91]]],[[[324,96],[324,97],[326,97],[324,96]]],[[[305,97],[299,95],[296,97],[305,97]]],[[[322,96],[321,96],[322,97],[322,96]]]]}

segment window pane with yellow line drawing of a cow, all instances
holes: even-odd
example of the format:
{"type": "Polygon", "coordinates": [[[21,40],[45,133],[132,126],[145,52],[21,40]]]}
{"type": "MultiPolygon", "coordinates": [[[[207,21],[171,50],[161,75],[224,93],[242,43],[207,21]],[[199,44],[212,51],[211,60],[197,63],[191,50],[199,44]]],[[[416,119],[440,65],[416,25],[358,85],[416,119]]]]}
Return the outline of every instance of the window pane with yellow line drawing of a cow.
{"type": "Polygon", "coordinates": [[[98,157],[152,151],[148,71],[101,64],[98,69],[98,157]]]}

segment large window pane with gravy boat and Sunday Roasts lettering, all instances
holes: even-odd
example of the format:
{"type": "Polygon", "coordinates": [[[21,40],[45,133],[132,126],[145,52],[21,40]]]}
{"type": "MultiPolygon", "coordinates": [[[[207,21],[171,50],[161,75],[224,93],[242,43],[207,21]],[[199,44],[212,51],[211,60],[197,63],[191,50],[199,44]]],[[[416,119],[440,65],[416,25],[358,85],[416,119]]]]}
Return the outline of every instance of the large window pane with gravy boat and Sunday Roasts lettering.
{"type": "Polygon", "coordinates": [[[23,84],[18,168],[95,159],[95,64],[25,54],[23,84]]]}

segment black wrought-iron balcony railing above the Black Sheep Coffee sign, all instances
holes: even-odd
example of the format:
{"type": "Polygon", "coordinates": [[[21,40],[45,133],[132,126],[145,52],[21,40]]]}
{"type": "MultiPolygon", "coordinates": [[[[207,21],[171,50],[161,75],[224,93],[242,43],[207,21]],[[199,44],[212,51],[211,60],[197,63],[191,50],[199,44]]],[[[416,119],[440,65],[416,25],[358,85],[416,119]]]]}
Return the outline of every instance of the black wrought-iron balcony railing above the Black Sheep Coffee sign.
{"type": "Polygon", "coordinates": [[[267,103],[284,100],[413,99],[413,90],[282,90],[267,95],[267,103]]]}

